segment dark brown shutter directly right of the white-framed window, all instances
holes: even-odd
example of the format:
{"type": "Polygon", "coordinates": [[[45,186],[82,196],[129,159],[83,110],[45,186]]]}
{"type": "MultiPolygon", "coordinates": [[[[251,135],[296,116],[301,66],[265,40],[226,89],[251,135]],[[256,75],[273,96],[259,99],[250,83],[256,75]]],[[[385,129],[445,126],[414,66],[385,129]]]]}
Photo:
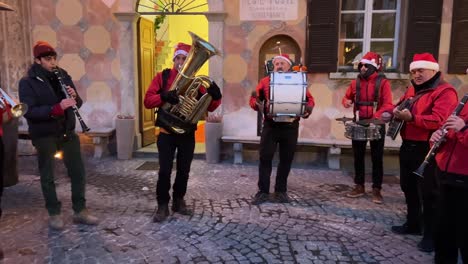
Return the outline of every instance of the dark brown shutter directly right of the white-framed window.
{"type": "Polygon", "coordinates": [[[429,52],[439,57],[442,0],[410,0],[403,69],[409,69],[415,53],[429,52]]]}

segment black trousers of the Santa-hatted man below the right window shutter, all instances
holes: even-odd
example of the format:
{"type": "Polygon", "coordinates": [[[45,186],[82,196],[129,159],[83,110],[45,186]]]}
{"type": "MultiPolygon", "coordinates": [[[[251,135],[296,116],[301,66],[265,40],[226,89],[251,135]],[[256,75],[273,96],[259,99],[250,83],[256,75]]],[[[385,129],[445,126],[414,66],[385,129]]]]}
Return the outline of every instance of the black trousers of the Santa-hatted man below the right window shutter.
{"type": "Polygon", "coordinates": [[[426,167],[424,178],[413,173],[428,151],[429,142],[403,140],[400,148],[400,186],[405,194],[408,225],[420,227],[423,224],[424,238],[431,239],[438,192],[434,162],[426,167]]]}

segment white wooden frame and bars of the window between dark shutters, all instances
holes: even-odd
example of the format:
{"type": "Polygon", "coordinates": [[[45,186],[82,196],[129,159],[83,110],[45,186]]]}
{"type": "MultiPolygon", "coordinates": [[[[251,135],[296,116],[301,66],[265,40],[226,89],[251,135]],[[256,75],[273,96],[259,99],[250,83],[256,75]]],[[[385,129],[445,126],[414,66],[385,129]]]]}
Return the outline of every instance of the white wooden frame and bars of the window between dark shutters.
{"type": "MultiPolygon", "coordinates": [[[[393,56],[392,61],[393,65],[386,70],[394,70],[398,67],[395,62],[398,58],[398,46],[399,46],[399,35],[400,35],[400,13],[401,13],[401,0],[396,0],[396,9],[385,9],[385,10],[373,10],[372,5],[374,0],[365,0],[364,10],[341,10],[343,1],[340,1],[340,27],[341,27],[341,18],[343,14],[364,14],[364,31],[363,38],[340,38],[338,41],[341,42],[362,42],[362,56],[370,51],[371,42],[385,42],[393,41],[393,56]],[[372,15],[373,14],[392,14],[395,13],[395,37],[394,38],[371,38],[372,34],[372,15]],[[370,23],[368,23],[370,21],[370,23]]],[[[340,32],[341,28],[338,32],[340,32]]],[[[338,45],[340,47],[340,45],[338,45]]],[[[340,50],[338,50],[340,54],[340,50]]],[[[350,66],[338,65],[339,70],[349,70],[350,66]]]]}

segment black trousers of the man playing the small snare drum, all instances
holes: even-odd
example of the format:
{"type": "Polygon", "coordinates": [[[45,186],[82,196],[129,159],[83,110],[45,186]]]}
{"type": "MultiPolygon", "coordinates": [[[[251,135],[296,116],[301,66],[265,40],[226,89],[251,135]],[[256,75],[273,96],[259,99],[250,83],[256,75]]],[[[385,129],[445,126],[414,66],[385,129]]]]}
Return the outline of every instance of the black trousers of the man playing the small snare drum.
{"type": "MultiPolygon", "coordinates": [[[[383,179],[383,151],[385,144],[385,126],[380,128],[381,139],[371,140],[371,158],[372,158],[372,188],[382,188],[383,179]]],[[[367,141],[353,140],[354,154],[354,183],[364,185],[365,182],[365,156],[367,141]]]]}

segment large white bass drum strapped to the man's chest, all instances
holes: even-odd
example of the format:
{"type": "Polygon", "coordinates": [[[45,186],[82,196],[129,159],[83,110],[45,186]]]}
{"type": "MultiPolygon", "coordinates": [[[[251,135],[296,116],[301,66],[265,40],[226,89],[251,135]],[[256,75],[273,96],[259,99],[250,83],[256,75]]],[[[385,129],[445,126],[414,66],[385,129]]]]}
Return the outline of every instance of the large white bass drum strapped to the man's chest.
{"type": "Polygon", "coordinates": [[[270,73],[270,116],[303,116],[307,104],[306,92],[305,72],[270,73]]]}

